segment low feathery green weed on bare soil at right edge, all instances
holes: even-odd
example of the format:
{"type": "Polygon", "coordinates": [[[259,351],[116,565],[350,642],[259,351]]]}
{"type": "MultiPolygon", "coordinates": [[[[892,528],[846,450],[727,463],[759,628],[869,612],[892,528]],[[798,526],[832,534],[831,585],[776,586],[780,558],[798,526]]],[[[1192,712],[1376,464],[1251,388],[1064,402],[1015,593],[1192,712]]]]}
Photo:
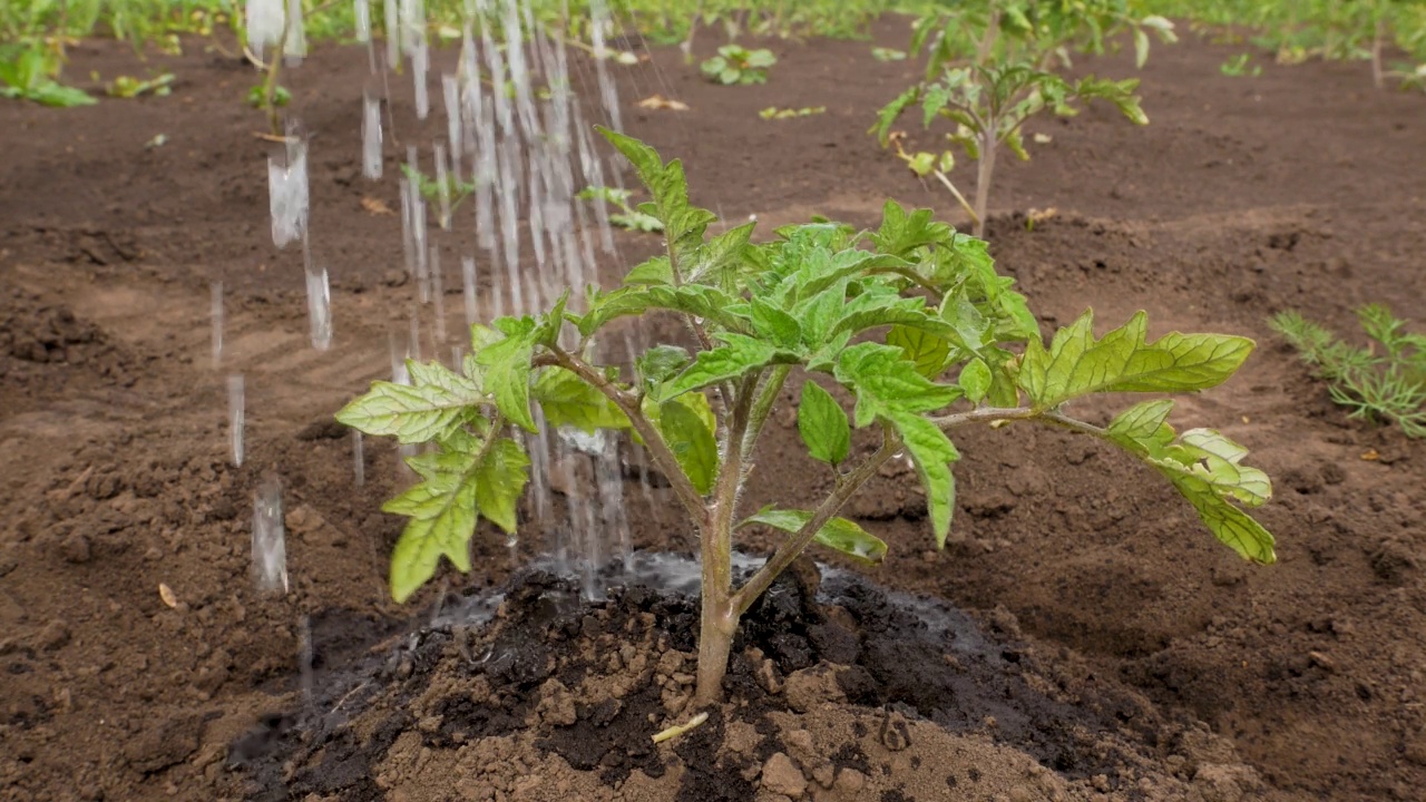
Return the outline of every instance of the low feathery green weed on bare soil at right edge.
{"type": "Polygon", "coordinates": [[[1407,437],[1426,438],[1426,335],[1407,331],[1406,321],[1382,304],[1368,304],[1356,317],[1372,340],[1366,348],[1295,311],[1269,324],[1328,380],[1332,400],[1353,418],[1393,421],[1407,437]]]}

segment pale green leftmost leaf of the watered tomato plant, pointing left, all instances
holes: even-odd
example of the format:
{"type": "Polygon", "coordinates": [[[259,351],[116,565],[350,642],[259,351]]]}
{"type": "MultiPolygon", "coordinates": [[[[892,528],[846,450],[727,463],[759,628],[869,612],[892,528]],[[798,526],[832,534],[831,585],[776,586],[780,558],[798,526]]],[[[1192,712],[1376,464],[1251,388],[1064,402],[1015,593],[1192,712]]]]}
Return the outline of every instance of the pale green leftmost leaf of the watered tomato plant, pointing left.
{"type": "Polygon", "coordinates": [[[399,442],[428,442],[486,398],[473,381],[439,364],[408,362],[412,385],[372,382],[371,390],[337,412],[338,422],[399,442]]]}

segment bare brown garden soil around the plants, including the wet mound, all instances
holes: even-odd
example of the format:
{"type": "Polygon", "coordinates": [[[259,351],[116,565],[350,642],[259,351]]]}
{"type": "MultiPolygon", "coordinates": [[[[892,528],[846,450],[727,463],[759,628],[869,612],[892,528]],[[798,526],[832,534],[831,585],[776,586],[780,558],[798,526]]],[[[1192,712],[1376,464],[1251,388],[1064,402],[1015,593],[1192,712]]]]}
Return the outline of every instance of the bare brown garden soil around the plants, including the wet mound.
{"type": "MultiPolygon", "coordinates": [[[[877,39],[901,46],[904,26],[877,39]]],[[[706,84],[676,50],[622,68],[629,133],[682,157],[694,200],[729,220],[868,225],[886,197],[957,220],[863,134],[913,66],[868,43],[770,46],[759,87],[706,84]],[[655,93],[690,111],[635,106],[655,93]],[[767,106],[827,111],[763,121],[767,106]]],[[[1094,442],[965,432],[947,549],[910,475],[888,469],[850,509],[891,545],[868,578],[940,599],[955,624],[921,631],[906,599],[856,579],[826,604],[784,585],[790,606],[764,605],[739,645],[729,705],[653,748],[684,718],[687,598],[630,589],[538,615],[568,591],[512,575],[493,532],[473,574],[406,606],[385,594],[396,454],[368,442],[356,488],[331,424],[388,374],[414,305],[399,218],[369,203],[396,208],[395,184],[361,180],[365,53],[318,49],[288,73],[312,133],[314,254],[332,270],[337,340],[318,352],[301,257],[270,245],[251,70],[202,41],[143,67],[120,44],[78,46],[71,76],[178,81],[165,98],[0,106],[0,799],[1419,799],[1423,445],[1333,407],[1265,318],[1298,308],[1349,330],[1368,301],[1426,317],[1423,98],[1375,91],[1359,64],[1225,77],[1235,53],[1191,36],[1156,49],[1145,128],[1105,108],[1035,123],[1051,140],[1004,164],[988,237],[1047,325],[1144,308],[1159,333],[1259,341],[1176,420],[1224,430],[1275,478],[1262,521],[1279,562],[1238,561],[1094,442]],[[241,467],[227,372],[247,377],[241,467]],[[274,475],[282,597],[248,579],[252,494],[274,475]],[[491,626],[421,626],[438,601],[498,587],[511,595],[491,626]],[[961,655],[958,638],[984,648],[961,655]]],[[[1082,67],[1132,71],[1127,56],[1082,67]]],[[[394,97],[389,171],[441,124],[416,124],[409,88],[394,97]]],[[[629,260],[655,245],[619,243],[629,260]]],[[[777,420],[750,509],[826,489],[777,420]]],[[[627,495],[639,548],[689,547],[662,495],[627,495]]],[[[522,559],[549,534],[526,521],[522,559]]]]}

